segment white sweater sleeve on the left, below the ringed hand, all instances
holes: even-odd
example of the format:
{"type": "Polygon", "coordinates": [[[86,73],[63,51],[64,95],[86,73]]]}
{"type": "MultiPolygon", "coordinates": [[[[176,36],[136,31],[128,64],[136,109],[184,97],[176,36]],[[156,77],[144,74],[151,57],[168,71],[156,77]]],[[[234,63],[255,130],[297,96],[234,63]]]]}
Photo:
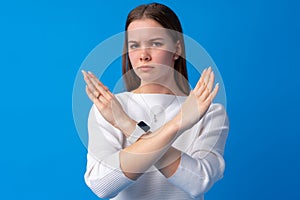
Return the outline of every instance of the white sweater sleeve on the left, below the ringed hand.
{"type": "Polygon", "coordinates": [[[120,168],[119,152],[124,137],[101,116],[95,105],[89,114],[88,132],[85,182],[98,197],[113,198],[134,183],[120,168]]]}

